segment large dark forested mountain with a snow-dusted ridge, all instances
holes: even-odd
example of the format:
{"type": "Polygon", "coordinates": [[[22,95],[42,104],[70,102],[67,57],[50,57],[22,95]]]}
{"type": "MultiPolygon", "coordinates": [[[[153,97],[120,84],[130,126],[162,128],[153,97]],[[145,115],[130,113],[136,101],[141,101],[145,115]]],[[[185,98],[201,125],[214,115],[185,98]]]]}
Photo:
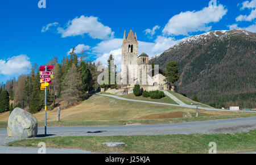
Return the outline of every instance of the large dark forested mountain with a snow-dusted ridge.
{"type": "Polygon", "coordinates": [[[256,107],[256,33],[242,29],[192,36],[151,61],[164,69],[176,61],[178,91],[203,103],[256,107]]]}

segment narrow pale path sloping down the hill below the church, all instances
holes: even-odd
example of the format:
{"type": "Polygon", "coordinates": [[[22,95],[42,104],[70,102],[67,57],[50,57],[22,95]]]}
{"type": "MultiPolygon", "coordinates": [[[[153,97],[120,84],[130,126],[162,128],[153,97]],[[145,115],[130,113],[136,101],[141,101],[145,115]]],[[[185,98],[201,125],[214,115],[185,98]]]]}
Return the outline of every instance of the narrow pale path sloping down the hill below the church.
{"type": "MultiPolygon", "coordinates": [[[[135,101],[135,102],[150,103],[150,104],[161,104],[161,105],[171,105],[171,106],[175,106],[175,107],[185,107],[185,108],[194,108],[194,109],[196,109],[196,106],[194,106],[194,105],[187,105],[187,104],[177,105],[177,104],[159,103],[159,102],[154,102],[154,101],[133,100],[133,99],[122,98],[122,97],[115,96],[115,95],[106,95],[106,94],[100,94],[100,93],[97,93],[96,95],[107,96],[107,97],[110,97],[110,98],[119,99],[119,100],[126,100],[126,101],[135,101]]],[[[232,111],[232,110],[204,108],[204,107],[199,107],[199,109],[204,109],[204,110],[208,110],[208,111],[253,112],[253,113],[256,113],[256,111],[232,111]]]]}

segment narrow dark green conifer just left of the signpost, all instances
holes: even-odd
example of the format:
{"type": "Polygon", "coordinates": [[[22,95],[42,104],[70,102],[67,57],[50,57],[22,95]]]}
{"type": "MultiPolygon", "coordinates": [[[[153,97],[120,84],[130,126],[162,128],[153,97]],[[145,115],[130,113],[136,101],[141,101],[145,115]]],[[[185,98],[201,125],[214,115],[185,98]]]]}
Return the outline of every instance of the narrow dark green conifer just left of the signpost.
{"type": "Polygon", "coordinates": [[[39,71],[32,82],[32,92],[30,98],[30,113],[39,112],[42,109],[42,96],[40,92],[40,76],[39,71]]]}

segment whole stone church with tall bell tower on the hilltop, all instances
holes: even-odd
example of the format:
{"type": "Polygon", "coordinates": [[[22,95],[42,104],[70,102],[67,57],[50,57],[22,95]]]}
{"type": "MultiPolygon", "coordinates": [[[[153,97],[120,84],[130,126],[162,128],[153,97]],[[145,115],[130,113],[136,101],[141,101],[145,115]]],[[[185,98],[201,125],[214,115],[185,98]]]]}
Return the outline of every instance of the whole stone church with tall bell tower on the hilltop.
{"type": "Polygon", "coordinates": [[[143,90],[167,90],[168,86],[164,79],[162,70],[159,70],[158,65],[148,65],[148,55],[142,53],[138,56],[139,44],[137,34],[132,30],[126,36],[126,31],[123,34],[122,43],[122,65],[120,77],[121,85],[118,89],[109,89],[107,92],[125,95],[133,93],[135,84],[139,84],[143,90]],[[152,68],[154,67],[154,68],[152,68]]]}

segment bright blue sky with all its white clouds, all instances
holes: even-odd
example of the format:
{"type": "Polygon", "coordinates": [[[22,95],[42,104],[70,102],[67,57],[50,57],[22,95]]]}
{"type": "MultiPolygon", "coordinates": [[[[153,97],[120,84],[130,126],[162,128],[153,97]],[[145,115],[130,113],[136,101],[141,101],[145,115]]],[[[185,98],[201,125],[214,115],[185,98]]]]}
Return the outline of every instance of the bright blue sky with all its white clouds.
{"type": "Polygon", "coordinates": [[[162,53],[181,39],[208,31],[243,28],[256,32],[256,0],[116,1],[3,0],[0,5],[0,82],[26,74],[36,62],[69,50],[86,50],[91,61],[121,63],[123,32],[137,32],[139,53],[162,53]]]}

